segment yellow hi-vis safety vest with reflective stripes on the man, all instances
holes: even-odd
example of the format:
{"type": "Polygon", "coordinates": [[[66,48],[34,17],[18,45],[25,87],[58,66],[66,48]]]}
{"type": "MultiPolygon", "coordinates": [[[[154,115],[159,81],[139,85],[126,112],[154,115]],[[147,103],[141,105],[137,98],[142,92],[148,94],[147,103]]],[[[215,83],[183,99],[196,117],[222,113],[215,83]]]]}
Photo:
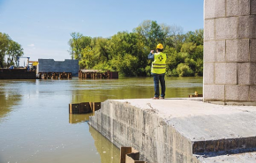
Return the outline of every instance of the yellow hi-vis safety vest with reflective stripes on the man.
{"type": "Polygon", "coordinates": [[[166,54],[154,53],[154,62],[152,63],[151,73],[163,74],[166,69],[166,54]]]}

